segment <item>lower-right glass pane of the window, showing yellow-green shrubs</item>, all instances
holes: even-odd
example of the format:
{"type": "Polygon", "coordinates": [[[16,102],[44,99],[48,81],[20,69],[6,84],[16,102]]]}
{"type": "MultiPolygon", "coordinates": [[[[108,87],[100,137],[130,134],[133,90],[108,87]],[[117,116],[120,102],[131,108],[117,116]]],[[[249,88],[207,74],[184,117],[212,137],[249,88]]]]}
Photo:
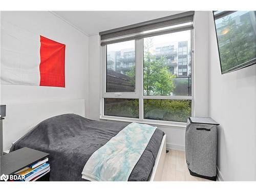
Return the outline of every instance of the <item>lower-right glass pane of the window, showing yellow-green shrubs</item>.
{"type": "Polygon", "coordinates": [[[191,100],[144,99],[144,119],[187,122],[191,100]]]}

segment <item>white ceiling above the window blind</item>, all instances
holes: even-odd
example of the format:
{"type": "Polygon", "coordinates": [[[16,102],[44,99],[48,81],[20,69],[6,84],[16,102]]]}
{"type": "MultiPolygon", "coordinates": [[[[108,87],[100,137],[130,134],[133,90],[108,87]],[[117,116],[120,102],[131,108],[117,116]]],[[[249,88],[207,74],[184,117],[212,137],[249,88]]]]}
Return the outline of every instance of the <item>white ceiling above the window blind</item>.
{"type": "Polygon", "coordinates": [[[52,11],[87,35],[184,11],[52,11]]]}

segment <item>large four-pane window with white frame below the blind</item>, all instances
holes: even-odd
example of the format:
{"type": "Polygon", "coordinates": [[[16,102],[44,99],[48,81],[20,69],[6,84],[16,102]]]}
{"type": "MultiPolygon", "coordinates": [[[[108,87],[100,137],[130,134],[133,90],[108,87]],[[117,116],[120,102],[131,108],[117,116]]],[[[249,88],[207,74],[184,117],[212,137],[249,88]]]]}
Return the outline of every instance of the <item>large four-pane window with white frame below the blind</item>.
{"type": "Polygon", "coordinates": [[[101,116],[186,122],[193,111],[192,32],[102,46],[101,116]]]}

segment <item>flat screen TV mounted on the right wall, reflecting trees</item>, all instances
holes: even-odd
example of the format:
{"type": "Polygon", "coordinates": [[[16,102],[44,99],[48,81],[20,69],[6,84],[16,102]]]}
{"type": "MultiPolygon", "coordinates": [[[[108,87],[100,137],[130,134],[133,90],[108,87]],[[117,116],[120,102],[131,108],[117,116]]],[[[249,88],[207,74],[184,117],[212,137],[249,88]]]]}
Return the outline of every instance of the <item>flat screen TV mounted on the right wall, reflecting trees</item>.
{"type": "Polygon", "coordinates": [[[256,63],[256,11],[214,11],[221,73],[256,63]]]}

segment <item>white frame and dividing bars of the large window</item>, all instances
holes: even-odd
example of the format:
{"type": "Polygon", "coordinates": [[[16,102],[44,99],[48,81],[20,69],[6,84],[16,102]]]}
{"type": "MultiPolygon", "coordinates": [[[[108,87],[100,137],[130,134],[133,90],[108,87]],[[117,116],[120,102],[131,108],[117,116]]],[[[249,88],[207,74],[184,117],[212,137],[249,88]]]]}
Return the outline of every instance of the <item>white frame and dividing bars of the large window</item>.
{"type": "Polygon", "coordinates": [[[168,100],[191,100],[191,115],[195,114],[194,99],[194,29],[191,29],[191,96],[144,96],[143,94],[143,38],[135,39],[135,92],[106,92],[106,45],[101,46],[101,99],[100,99],[100,119],[115,120],[124,122],[149,123],[159,126],[175,126],[184,128],[186,122],[164,121],[143,119],[143,99],[168,99],[168,100]],[[142,90],[141,90],[142,89],[142,90]],[[104,115],[104,98],[122,98],[122,99],[139,99],[139,118],[116,117],[104,115]]]}

